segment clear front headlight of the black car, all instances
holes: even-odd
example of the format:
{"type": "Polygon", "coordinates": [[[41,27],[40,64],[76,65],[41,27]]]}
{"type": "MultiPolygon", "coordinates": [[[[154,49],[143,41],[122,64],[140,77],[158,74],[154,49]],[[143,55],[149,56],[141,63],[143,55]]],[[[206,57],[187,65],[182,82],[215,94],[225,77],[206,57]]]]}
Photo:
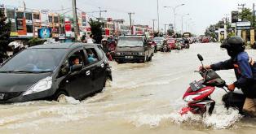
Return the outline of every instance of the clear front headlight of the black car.
{"type": "Polygon", "coordinates": [[[33,84],[32,87],[30,87],[24,94],[25,95],[29,95],[29,94],[33,94],[33,93],[39,93],[48,89],[51,89],[51,85],[52,85],[52,76],[48,76],[45,79],[39,80],[36,84],[33,84]]]}

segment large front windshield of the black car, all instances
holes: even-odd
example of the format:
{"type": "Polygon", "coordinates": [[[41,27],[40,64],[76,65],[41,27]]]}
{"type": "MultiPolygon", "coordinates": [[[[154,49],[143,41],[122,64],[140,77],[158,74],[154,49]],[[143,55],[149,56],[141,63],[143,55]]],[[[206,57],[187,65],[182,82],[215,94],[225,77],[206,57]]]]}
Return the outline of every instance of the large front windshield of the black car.
{"type": "Polygon", "coordinates": [[[28,49],[15,55],[0,72],[51,72],[64,57],[65,49],[28,49]]]}

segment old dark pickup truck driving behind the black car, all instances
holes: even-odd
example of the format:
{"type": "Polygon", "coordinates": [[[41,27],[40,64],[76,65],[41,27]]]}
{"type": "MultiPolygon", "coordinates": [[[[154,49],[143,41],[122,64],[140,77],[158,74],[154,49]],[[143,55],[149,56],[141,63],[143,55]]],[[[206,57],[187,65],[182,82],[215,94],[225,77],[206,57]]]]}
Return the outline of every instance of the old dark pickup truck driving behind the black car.
{"type": "Polygon", "coordinates": [[[114,59],[117,63],[145,63],[152,60],[154,50],[145,36],[120,37],[114,59]]]}

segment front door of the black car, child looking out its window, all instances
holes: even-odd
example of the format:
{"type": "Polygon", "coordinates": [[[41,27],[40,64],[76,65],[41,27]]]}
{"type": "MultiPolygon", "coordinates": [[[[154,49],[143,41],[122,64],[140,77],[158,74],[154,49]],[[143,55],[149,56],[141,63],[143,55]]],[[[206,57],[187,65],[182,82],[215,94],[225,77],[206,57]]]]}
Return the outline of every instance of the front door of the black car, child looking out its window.
{"type": "Polygon", "coordinates": [[[81,99],[86,94],[87,89],[91,89],[91,77],[90,69],[85,67],[85,54],[83,49],[74,50],[71,54],[68,55],[68,64],[72,66],[72,61],[70,58],[77,56],[80,58],[82,63],[82,70],[80,71],[70,71],[66,78],[64,79],[64,89],[68,92],[70,97],[75,99],[81,99]]]}

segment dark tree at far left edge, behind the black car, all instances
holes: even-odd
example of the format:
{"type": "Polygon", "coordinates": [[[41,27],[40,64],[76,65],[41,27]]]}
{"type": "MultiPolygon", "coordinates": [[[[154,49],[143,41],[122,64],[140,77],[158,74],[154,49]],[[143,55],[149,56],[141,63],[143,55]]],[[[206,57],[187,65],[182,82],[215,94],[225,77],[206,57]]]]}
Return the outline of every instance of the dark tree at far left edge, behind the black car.
{"type": "Polygon", "coordinates": [[[6,22],[4,12],[0,9],[0,63],[7,58],[7,47],[10,40],[11,22],[6,22]]]}

